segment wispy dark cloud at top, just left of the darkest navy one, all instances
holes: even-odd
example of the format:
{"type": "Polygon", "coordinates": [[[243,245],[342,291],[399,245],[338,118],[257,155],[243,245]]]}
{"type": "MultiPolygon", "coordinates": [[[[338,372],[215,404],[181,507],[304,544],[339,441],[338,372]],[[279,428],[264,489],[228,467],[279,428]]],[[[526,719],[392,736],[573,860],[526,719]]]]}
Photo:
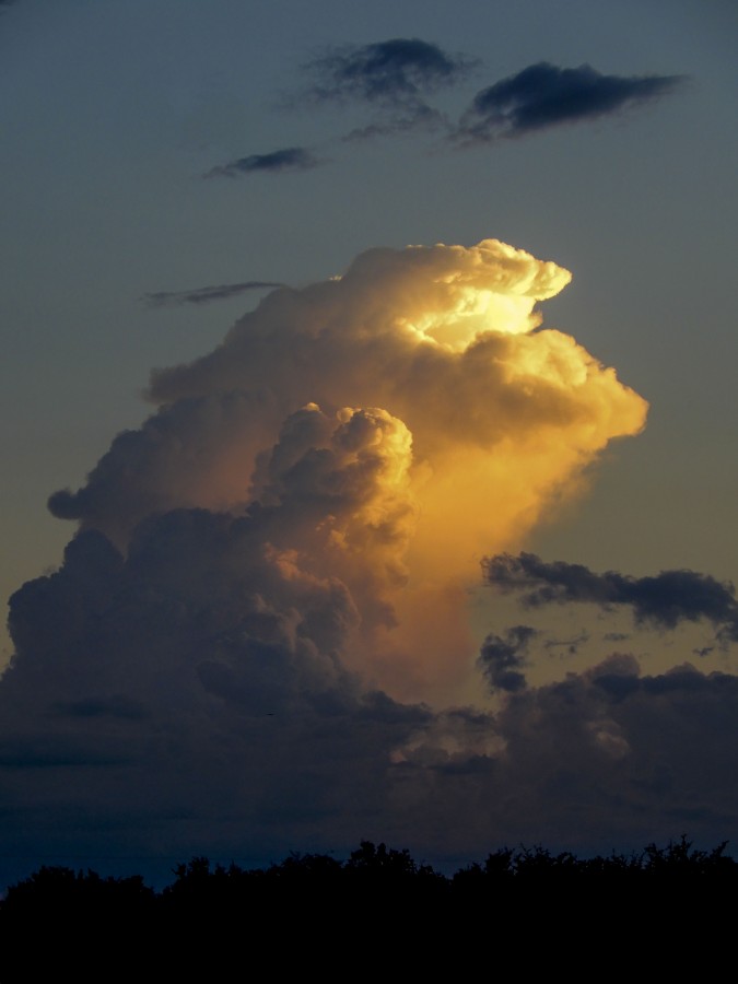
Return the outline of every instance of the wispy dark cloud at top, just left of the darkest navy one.
{"type": "Polygon", "coordinates": [[[393,38],[372,45],[332,48],[305,66],[319,101],[420,102],[424,92],[457,82],[471,62],[419,38],[393,38]]]}

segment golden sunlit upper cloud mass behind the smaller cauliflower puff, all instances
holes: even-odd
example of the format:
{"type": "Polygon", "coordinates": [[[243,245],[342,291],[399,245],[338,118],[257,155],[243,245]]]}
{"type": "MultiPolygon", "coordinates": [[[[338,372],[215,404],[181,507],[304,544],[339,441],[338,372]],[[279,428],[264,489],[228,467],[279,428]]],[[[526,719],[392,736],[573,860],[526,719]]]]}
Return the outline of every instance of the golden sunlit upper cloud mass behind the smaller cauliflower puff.
{"type": "MultiPolygon", "coordinates": [[[[612,370],[570,336],[540,329],[537,304],[570,278],[485,239],[372,249],[340,278],[276,290],[209,355],[154,372],[159,411],[120,434],[86,485],[55,493],[50,508],[119,549],[151,514],[198,507],[237,516],[261,504],[265,455],[301,408],[315,405],[327,420],[344,408],[380,408],[407,435],[400,441],[396,430],[393,440],[406,455],[413,528],[387,532],[383,564],[407,567],[408,583],[384,598],[395,629],[374,640],[371,660],[382,686],[403,679],[402,696],[426,699],[421,680],[436,679],[435,696],[468,671],[456,656],[469,646],[466,613],[453,595],[476,576],[482,552],[516,543],[549,496],[575,485],[612,437],[637,433],[645,420],[645,401],[612,370]],[[437,629],[421,657],[429,606],[437,629]]],[[[390,475],[399,472],[387,466],[388,488],[390,475]]],[[[328,523],[330,503],[320,505],[326,516],[316,523],[328,523]]],[[[372,558],[352,557],[354,581],[372,582],[372,558]]],[[[389,622],[365,616],[364,624],[372,635],[389,622]]]]}

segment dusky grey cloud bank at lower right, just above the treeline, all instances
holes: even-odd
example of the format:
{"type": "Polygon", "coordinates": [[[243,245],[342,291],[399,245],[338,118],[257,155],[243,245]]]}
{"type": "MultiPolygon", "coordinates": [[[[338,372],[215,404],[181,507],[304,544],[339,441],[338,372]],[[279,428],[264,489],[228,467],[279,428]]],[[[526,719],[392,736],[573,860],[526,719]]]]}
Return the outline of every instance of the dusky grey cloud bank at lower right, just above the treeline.
{"type": "Polygon", "coordinates": [[[546,809],[548,800],[551,829],[562,833],[565,812],[586,830],[608,811],[611,836],[623,823],[644,841],[682,825],[733,830],[737,707],[735,676],[683,664],[642,677],[626,655],[512,694],[497,726],[504,768],[518,775],[507,773],[516,808],[546,809]]]}

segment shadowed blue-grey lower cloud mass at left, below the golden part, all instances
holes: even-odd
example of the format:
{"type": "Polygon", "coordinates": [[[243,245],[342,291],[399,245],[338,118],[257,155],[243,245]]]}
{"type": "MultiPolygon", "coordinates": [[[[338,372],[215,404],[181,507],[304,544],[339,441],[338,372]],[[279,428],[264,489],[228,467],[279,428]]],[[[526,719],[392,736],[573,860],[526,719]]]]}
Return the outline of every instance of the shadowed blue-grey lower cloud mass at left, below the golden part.
{"type": "Polygon", "coordinates": [[[284,851],[326,824],[359,843],[389,809],[393,750],[430,714],[359,687],[338,657],[358,621],[348,589],[280,546],[316,497],[329,495],[333,515],[353,497],[336,471],[329,492],[311,485],[327,464],[292,454],[292,475],[267,469],[281,491],[266,487],[273,504],[243,517],[151,517],[125,558],[82,532],[59,571],[13,596],[0,827],[26,843],[21,854],[38,851],[50,813],[51,852],[99,850],[125,817],[139,854],[187,857],[221,837],[233,853],[234,836],[284,851]],[[97,831],[84,846],[65,821],[81,809],[97,831]]]}

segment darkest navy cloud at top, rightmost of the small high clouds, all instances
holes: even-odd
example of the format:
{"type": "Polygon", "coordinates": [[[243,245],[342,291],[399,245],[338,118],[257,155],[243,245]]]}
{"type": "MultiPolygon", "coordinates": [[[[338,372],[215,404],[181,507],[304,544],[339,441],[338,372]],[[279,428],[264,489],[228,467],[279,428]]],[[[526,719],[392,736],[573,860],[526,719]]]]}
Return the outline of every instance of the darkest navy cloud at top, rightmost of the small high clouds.
{"type": "Polygon", "coordinates": [[[666,95],[683,81],[683,75],[604,75],[588,65],[562,69],[541,61],[477,93],[455,139],[490,143],[596,119],[666,95]]]}

